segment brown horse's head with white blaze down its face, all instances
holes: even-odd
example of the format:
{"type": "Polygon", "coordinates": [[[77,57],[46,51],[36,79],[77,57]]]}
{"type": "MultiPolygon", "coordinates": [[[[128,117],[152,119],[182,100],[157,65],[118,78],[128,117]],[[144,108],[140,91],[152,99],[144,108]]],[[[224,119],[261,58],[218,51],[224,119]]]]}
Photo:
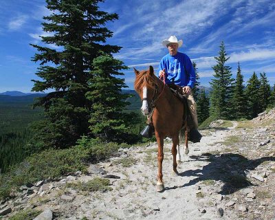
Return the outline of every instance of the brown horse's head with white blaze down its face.
{"type": "Polygon", "coordinates": [[[155,74],[152,66],[149,69],[135,71],[135,91],[142,99],[142,113],[144,115],[150,115],[153,111],[153,105],[157,99],[157,80],[159,80],[155,74]]]}

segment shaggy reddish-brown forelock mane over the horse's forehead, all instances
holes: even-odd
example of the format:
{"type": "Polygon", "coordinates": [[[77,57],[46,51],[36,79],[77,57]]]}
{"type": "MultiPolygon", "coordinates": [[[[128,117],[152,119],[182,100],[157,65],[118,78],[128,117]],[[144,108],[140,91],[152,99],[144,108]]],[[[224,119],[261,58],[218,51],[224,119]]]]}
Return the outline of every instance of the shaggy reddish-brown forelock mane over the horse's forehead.
{"type": "Polygon", "coordinates": [[[140,92],[143,87],[153,89],[157,84],[157,80],[158,78],[155,75],[150,74],[148,70],[143,70],[135,78],[135,91],[140,92]]]}

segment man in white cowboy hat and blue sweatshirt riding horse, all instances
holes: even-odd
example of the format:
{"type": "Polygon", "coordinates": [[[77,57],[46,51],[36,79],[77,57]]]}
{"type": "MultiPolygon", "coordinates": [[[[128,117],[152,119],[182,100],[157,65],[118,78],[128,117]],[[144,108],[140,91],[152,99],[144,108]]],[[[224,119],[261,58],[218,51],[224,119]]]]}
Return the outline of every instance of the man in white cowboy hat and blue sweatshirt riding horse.
{"type": "Polygon", "coordinates": [[[162,41],[162,45],[167,47],[168,54],[160,61],[157,75],[159,78],[164,78],[167,85],[177,85],[181,88],[182,94],[187,98],[190,115],[192,116],[192,122],[188,124],[190,126],[188,140],[194,143],[200,142],[201,134],[197,131],[197,104],[191,91],[196,80],[195,69],[190,58],[186,54],[177,51],[182,45],[182,40],[177,41],[176,36],[170,36],[169,39],[162,41]]]}

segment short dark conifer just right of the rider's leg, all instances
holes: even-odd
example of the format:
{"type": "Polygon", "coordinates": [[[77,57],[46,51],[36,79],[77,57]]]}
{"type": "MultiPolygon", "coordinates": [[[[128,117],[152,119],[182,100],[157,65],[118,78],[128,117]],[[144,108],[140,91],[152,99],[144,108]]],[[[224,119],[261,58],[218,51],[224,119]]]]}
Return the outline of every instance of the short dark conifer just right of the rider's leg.
{"type": "Polygon", "coordinates": [[[209,98],[206,96],[204,89],[200,90],[197,100],[197,117],[198,122],[201,124],[209,117],[209,98]]]}

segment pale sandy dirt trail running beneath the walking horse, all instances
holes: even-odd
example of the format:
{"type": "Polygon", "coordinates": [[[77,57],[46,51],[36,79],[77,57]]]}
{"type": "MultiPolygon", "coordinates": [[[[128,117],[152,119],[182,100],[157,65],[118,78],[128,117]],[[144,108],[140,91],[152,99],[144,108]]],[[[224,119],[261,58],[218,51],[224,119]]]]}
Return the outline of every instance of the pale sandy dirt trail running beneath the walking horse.
{"type": "MultiPolygon", "coordinates": [[[[86,217],[92,216],[95,219],[218,219],[217,207],[214,203],[207,203],[208,199],[204,198],[210,196],[210,193],[215,197],[217,193],[208,192],[198,179],[200,173],[203,173],[203,167],[210,162],[197,160],[195,157],[216,151],[220,145],[216,142],[222,142],[231,135],[234,126],[222,131],[207,131],[208,134],[203,135],[200,143],[189,145],[188,155],[181,152],[179,175],[173,173],[171,143],[166,142],[163,163],[164,192],[157,192],[155,186],[156,143],[124,151],[125,158],[135,160],[135,164],[129,168],[101,163],[100,166],[107,173],[118,175],[122,179],[113,182],[113,191],[96,193],[91,201],[83,202],[77,209],[78,213],[82,212],[86,217]]],[[[113,158],[112,161],[120,159],[113,158]]],[[[227,219],[226,214],[223,218],[227,219]]],[[[232,216],[228,219],[232,219],[232,216]]]]}

